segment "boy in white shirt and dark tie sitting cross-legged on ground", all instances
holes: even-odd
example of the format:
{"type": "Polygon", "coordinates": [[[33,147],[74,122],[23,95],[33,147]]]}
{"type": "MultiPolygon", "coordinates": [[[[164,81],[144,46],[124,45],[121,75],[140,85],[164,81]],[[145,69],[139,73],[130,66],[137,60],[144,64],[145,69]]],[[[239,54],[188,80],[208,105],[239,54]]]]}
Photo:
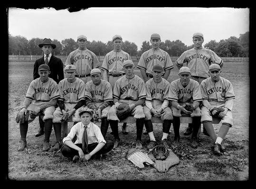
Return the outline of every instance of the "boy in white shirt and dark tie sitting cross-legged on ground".
{"type": "Polygon", "coordinates": [[[82,107],[79,110],[81,122],[76,123],[68,135],[63,138],[64,145],[61,153],[65,157],[73,159],[73,162],[88,161],[93,155],[103,155],[112,150],[114,144],[111,140],[105,140],[100,128],[91,122],[93,110],[82,107]],[[73,138],[76,141],[73,143],[73,138]]]}

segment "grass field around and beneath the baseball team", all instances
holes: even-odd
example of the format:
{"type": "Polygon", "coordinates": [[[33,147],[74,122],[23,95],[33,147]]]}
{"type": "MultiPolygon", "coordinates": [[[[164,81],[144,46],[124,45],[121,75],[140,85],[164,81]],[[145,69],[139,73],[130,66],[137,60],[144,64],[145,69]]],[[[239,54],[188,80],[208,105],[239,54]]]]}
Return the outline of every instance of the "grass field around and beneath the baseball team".
{"type": "MultiPolygon", "coordinates": [[[[18,152],[19,124],[15,117],[23,103],[30,82],[33,80],[34,62],[9,62],[9,154],[8,175],[10,180],[248,180],[249,179],[249,63],[227,62],[224,64],[222,76],[231,81],[236,99],[233,106],[233,124],[223,145],[227,148],[223,156],[214,156],[210,150],[212,142],[209,137],[200,134],[200,146],[190,147],[190,136],[183,132],[187,124],[181,124],[179,146],[171,145],[173,130],[168,136],[172,151],[180,158],[180,163],[174,165],[168,172],[159,173],[153,167],[136,168],[125,158],[126,151],[133,147],[136,136],[134,124],[129,125],[128,135],[120,137],[123,140],[118,150],[109,152],[102,160],[92,159],[88,163],[72,163],[63,157],[59,151],[42,152],[43,136],[34,137],[38,131],[38,118],[28,126],[28,147],[18,152]]],[[[136,64],[136,63],[135,63],[136,64]]],[[[140,75],[135,69],[135,74],[140,75]]],[[[171,70],[168,81],[178,78],[178,69],[171,70]]],[[[100,124],[97,123],[100,126],[100,124]]],[[[121,124],[119,125],[121,126],[121,124]]],[[[72,123],[68,124],[68,129],[72,123]]],[[[215,125],[218,132],[220,125],[215,125]]],[[[161,124],[154,124],[156,138],[161,137],[161,124]]],[[[171,126],[172,128],[172,126],[171,126]]],[[[113,139],[108,129],[106,138],[113,139]]],[[[142,136],[142,142],[147,144],[148,136],[142,136]]],[[[55,141],[52,131],[50,142],[55,141]]],[[[145,147],[145,146],[143,146],[145,147]]]]}

